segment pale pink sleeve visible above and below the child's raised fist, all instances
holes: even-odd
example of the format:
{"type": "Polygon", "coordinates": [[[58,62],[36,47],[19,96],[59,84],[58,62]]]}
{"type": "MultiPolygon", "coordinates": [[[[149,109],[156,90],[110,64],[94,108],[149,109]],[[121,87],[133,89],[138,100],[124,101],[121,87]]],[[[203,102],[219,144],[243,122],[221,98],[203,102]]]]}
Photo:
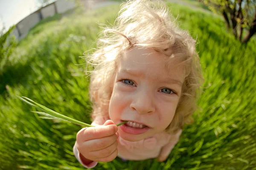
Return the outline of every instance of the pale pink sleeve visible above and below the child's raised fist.
{"type": "MultiPolygon", "coordinates": [[[[108,119],[106,119],[106,120],[108,120],[108,119]]],[[[104,118],[102,118],[102,117],[96,117],[96,118],[94,119],[94,121],[91,123],[91,125],[93,125],[93,126],[103,125],[106,120],[105,120],[104,118]]],[[[93,168],[93,167],[95,167],[95,166],[97,165],[97,163],[98,163],[98,162],[96,162],[96,161],[93,161],[93,162],[90,163],[90,164],[84,164],[84,163],[81,161],[80,153],[79,153],[79,150],[78,150],[77,147],[76,147],[76,143],[75,143],[75,145],[74,145],[74,147],[73,147],[73,153],[74,153],[76,159],[80,162],[80,164],[82,164],[82,165],[83,165],[84,167],[86,167],[86,168],[93,168]]]]}

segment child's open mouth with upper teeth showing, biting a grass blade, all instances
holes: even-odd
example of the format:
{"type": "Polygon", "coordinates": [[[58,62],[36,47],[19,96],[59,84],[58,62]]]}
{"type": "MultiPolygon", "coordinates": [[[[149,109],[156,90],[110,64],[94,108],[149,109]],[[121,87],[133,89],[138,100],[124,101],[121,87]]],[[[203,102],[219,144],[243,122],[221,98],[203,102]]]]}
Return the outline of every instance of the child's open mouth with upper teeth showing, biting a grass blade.
{"type": "MultiPolygon", "coordinates": [[[[124,122],[124,121],[121,120],[121,122],[124,122]]],[[[125,124],[121,125],[120,128],[122,131],[130,134],[134,134],[134,135],[145,133],[146,131],[151,129],[146,125],[143,125],[137,122],[132,122],[132,121],[126,122],[125,124]]]]}

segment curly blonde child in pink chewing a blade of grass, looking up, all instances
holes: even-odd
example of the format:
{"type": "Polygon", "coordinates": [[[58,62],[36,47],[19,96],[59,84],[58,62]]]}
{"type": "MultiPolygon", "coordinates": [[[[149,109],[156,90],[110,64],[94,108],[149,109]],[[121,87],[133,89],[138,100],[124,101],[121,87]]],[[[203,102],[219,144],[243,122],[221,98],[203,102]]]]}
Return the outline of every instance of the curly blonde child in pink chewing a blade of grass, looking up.
{"type": "Polygon", "coordinates": [[[165,161],[184,124],[192,123],[204,80],[195,40],[174,25],[162,1],[130,0],[115,24],[87,58],[94,64],[96,127],[81,129],[73,147],[87,168],[116,156],[165,161]]]}

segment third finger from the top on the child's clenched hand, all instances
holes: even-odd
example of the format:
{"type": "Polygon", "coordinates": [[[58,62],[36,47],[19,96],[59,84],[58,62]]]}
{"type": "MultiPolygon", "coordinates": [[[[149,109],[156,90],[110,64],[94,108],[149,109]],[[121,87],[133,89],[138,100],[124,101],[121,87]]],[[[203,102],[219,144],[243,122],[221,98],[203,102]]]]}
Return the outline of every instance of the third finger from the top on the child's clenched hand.
{"type": "Polygon", "coordinates": [[[110,156],[116,149],[117,149],[117,142],[114,142],[110,146],[101,149],[90,152],[90,156],[92,156],[95,159],[105,158],[107,156],[110,156]]]}

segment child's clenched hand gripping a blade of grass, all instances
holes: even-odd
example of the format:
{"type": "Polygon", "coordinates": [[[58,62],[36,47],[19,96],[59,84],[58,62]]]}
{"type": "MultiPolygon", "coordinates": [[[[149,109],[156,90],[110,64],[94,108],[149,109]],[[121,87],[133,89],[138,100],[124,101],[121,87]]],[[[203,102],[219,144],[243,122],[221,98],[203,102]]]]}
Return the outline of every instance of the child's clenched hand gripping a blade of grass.
{"type": "Polygon", "coordinates": [[[116,158],[119,134],[112,120],[98,127],[85,127],[76,135],[76,147],[84,158],[91,161],[108,162],[116,158]]]}

